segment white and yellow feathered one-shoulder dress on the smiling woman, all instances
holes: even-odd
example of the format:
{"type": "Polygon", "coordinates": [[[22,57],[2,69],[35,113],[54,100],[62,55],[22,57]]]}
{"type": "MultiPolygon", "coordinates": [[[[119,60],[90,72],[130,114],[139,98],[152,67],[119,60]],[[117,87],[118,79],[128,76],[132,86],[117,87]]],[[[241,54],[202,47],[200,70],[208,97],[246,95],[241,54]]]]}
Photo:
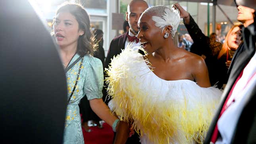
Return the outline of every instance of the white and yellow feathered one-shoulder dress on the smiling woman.
{"type": "Polygon", "coordinates": [[[106,69],[110,109],[133,121],[142,144],[202,143],[221,91],[190,80],[160,79],[147,63],[129,46],[113,58],[106,69]]]}

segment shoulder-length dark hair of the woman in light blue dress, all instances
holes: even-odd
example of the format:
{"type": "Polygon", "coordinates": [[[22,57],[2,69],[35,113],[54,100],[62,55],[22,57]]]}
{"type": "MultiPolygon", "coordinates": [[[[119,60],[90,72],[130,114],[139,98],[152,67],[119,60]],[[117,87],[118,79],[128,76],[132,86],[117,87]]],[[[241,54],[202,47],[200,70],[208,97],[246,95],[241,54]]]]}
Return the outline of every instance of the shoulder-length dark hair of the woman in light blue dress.
{"type": "Polygon", "coordinates": [[[93,52],[96,51],[97,46],[94,44],[94,35],[92,35],[90,29],[90,18],[85,8],[80,4],[64,2],[56,11],[56,15],[60,12],[71,13],[79,24],[79,30],[85,32],[78,38],[77,53],[80,56],[85,56],[86,54],[93,56],[93,52]]]}

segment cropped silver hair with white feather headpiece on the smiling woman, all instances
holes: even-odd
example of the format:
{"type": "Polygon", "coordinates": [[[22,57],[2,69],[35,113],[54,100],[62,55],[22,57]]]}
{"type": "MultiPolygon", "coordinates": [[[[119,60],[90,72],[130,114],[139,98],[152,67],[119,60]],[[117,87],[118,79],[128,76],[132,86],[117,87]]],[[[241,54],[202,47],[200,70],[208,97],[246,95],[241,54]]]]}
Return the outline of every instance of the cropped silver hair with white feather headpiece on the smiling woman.
{"type": "Polygon", "coordinates": [[[180,22],[180,15],[177,8],[174,8],[173,6],[171,6],[171,9],[167,6],[152,6],[146,9],[142,15],[143,14],[152,16],[152,20],[155,22],[156,27],[162,29],[162,32],[166,26],[171,25],[171,35],[175,35],[180,22]]]}

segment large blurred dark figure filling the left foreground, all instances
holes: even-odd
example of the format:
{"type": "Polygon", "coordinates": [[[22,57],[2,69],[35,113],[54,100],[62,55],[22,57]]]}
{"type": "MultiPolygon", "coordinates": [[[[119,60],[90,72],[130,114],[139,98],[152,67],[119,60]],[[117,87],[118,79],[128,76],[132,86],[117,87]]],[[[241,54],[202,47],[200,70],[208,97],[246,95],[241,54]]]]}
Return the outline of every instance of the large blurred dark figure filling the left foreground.
{"type": "Polygon", "coordinates": [[[0,143],[62,144],[64,68],[27,0],[0,2],[0,143]]]}

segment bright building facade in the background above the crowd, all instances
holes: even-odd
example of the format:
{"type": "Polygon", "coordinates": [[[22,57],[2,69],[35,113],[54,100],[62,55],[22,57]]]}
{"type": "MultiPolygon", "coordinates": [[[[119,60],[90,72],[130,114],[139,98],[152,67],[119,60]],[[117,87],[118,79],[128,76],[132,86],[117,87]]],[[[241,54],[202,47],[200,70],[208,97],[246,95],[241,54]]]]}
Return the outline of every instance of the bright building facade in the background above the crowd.
{"type": "MultiPolygon", "coordinates": [[[[105,55],[107,54],[111,40],[120,35],[119,30],[113,28],[113,25],[123,25],[122,22],[116,22],[113,13],[121,13],[125,15],[127,5],[131,0],[31,0],[37,2],[38,10],[42,12],[44,19],[46,19],[49,31],[52,27],[52,19],[54,18],[55,11],[58,8],[58,5],[62,4],[65,1],[75,2],[82,4],[90,15],[91,26],[93,28],[102,29],[104,32],[104,50],[105,55]]],[[[205,35],[208,33],[208,6],[207,3],[200,2],[184,2],[184,1],[175,1],[175,0],[145,0],[149,6],[164,5],[171,7],[174,3],[179,3],[185,10],[187,10],[192,17],[195,19],[196,23],[203,31],[205,35]]],[[[237,23],[237,13],[238,10],[235,6],[224,6],[220,5],[224,12],[228,15],[233,23],[237,23]]],[[[213,6],[210,4],[209,7],[209,18],[210,18],[210,33],[212,33],[212,21],[213,21],[213,6]]],[[[124,16],[123,16],[124,18],[124,16]]],[[[124,21],[125,19],[123,19],[124,21]]],[[[221,12],[219,8],[216,8],[216,27],[215,31],[218,35],[225,35],[229,28],[232,26],[231,22],[228,21],[227,17],[221,12]]],[[[178,28],[179,33],[187,33],[183,21],[181,20],[180,26],[178,28]]]]}

